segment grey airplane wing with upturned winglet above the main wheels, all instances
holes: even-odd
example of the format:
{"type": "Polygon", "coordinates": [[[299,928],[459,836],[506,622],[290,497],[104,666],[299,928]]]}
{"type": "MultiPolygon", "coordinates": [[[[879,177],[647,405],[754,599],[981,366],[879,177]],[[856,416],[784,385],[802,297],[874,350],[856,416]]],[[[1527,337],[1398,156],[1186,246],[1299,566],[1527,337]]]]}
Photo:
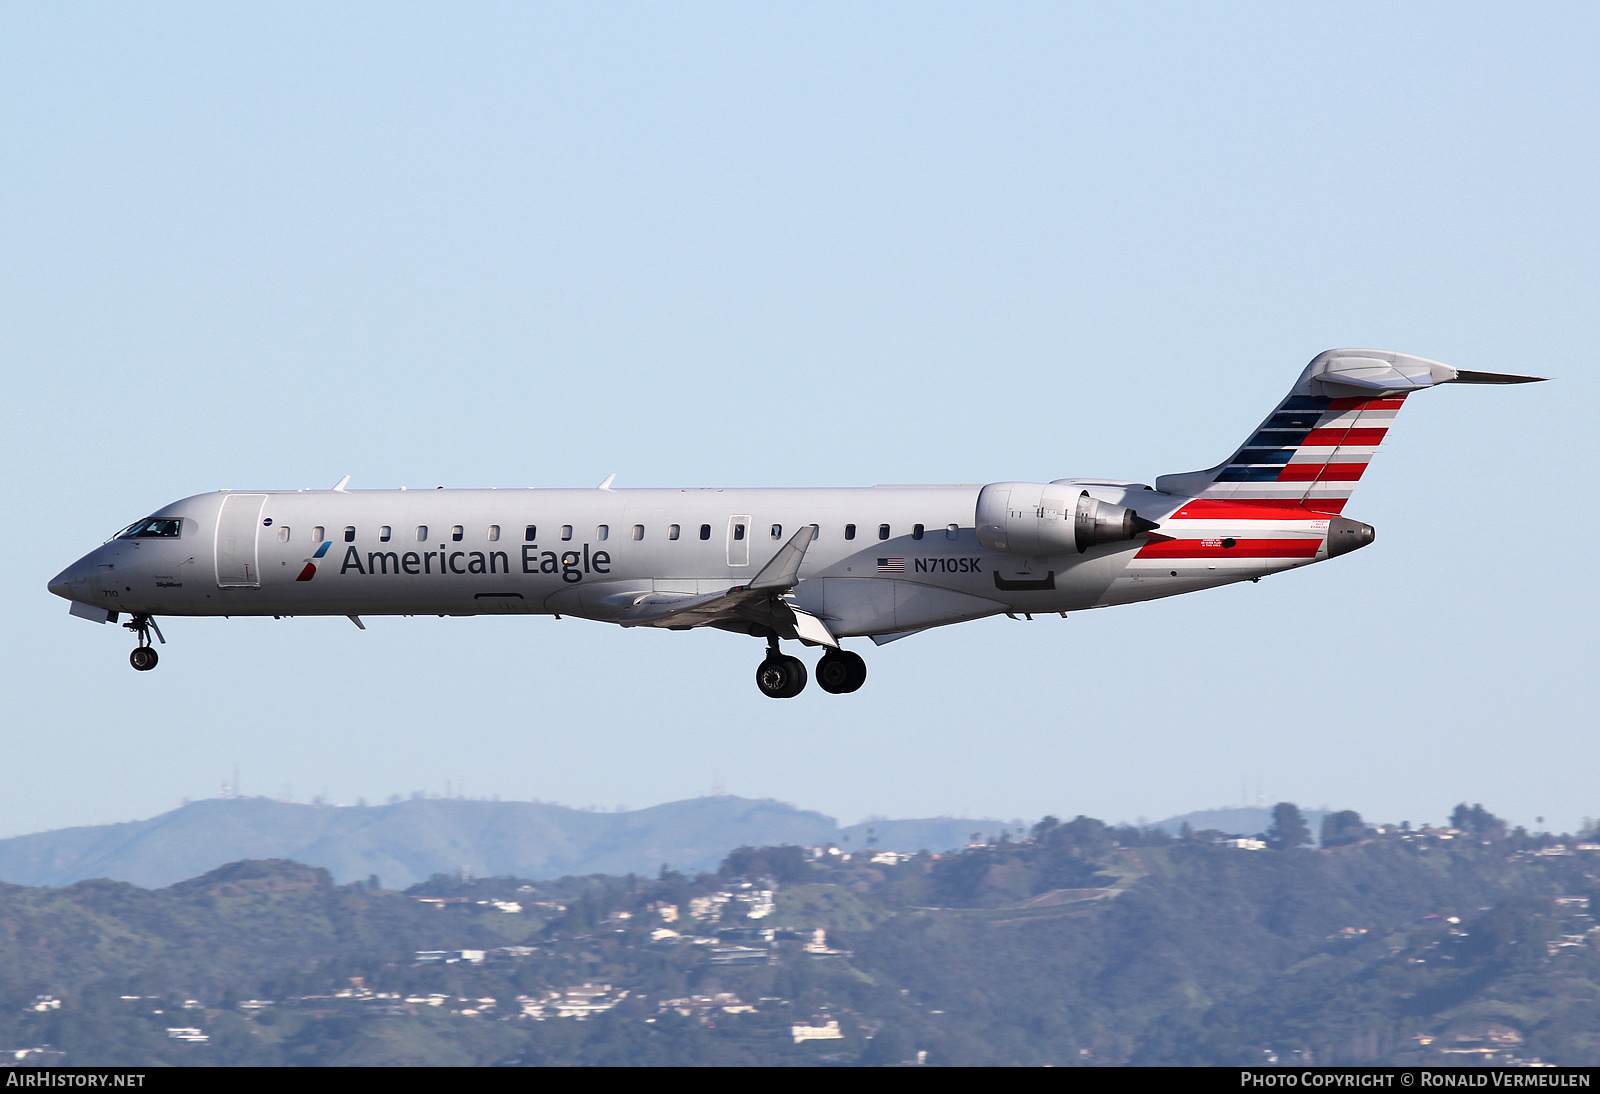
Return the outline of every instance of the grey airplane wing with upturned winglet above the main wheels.
{"type": "Polygon", "coordinates": [[[698,597],[651,593],[630,605],[618,622],[624,627],[667,627],[670,630],[691,627],[744,630],[754,624],[776,630],[782,637],[792,635],[838,648],[838,641],[821,619],[795,608],[784,598],[790,589],[800,584],[800,563],[805,561],[805,552],[811,545],[813,536],[816,536],[816,525],[806,525],[797,531],[746,585],[698,597]]]}

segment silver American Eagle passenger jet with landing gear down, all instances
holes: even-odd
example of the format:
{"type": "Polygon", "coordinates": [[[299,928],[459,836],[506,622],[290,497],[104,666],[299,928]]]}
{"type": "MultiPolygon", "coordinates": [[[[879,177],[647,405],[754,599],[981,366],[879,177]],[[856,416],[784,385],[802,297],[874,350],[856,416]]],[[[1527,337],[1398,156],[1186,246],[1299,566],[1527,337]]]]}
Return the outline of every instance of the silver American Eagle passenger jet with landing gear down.
{"type": "Polygon", "coordinates": [[[136,520],[50,581],[118,622],[147,672],[157,616],[579,616],[763,638],[755,683],[861,688],[843,648],[984,619],[1259,581],[1373,542],[1344,505],[1406,397],[1528,384],[1386,350],[1318,353],[1226,461],[1101,478],[829,489],[214,491],[136,520]]]}

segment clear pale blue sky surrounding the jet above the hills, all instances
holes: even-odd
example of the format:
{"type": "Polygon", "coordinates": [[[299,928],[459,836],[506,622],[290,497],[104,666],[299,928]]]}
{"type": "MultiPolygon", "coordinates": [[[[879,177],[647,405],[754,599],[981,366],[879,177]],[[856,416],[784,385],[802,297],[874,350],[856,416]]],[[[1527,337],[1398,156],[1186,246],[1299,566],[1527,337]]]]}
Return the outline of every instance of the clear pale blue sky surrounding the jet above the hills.
{"type": "Polygon", "coordinates": [[[1595,797],[1582,5],[5,5],[0,835],[246,793],[1571,827],[1595,797]],[[872,649],[170,621],[45,581],[219,486],[1154,481],[1333,345],[1363,552],[872,649]]]}

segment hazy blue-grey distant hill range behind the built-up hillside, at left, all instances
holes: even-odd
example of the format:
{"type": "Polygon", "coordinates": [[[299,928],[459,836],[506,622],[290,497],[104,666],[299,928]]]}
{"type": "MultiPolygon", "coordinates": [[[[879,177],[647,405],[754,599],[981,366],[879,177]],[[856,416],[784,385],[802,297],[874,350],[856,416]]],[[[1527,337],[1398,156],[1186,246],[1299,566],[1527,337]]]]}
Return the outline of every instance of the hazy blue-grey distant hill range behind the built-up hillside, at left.
{"type": "Polygon", "coordinates": [[[886,820],[840,827],[781,801],[714,795],[627,813],[534,801],[418,798],[317,806],[210,798],[149,820],[0,840],[0,881],[59,886],[86,878],[173,884],[240,859],[294,859],[349,883],[376,875],[405,888],[434,873],[555,878],[650,873],[662,864],[715,870],[739,844],[872,846],[942,851],[994,820],[886,820]]]}

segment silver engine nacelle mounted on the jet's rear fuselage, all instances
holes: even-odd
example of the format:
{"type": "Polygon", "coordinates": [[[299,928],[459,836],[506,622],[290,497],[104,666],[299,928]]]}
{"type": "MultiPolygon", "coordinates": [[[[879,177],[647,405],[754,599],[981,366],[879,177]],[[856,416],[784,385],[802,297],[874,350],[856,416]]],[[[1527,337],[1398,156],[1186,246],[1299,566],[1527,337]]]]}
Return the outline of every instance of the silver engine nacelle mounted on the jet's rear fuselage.
{"type": "Polygon", "coordinates": [[[978,542],[1014,555],[1082,555],[1158,525],[1066,483],[989,483],[978,494],[978,542]]]}

